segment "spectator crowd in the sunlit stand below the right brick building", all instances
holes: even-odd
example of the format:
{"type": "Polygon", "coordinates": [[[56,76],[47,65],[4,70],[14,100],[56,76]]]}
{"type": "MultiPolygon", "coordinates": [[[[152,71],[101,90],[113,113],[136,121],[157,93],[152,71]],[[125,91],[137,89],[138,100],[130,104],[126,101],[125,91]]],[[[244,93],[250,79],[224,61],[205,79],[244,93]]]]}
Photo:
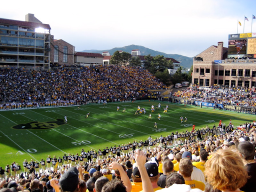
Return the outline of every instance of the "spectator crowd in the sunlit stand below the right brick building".
{"type": "Polygon", "coordinates": [[[210,88],[200,88],[190,86],[173,93],[173,96],[185,99],[200,99],[205,102],[220,104],[235,104],[239,106],[256,106],[256,88],[212,86],[210,88]]]}

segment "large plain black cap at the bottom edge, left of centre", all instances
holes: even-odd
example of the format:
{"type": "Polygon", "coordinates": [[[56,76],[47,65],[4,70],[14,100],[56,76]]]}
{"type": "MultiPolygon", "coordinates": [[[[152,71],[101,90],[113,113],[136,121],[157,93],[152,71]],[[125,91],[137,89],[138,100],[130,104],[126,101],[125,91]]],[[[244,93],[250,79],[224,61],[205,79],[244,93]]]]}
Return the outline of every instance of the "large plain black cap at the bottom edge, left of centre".
{"type": "Polygon", "coordinates": [[[60,177],[59,185],[62,191],[72,192],[78,185],[78,175],[75,171],[69,169],[60,177]]]}

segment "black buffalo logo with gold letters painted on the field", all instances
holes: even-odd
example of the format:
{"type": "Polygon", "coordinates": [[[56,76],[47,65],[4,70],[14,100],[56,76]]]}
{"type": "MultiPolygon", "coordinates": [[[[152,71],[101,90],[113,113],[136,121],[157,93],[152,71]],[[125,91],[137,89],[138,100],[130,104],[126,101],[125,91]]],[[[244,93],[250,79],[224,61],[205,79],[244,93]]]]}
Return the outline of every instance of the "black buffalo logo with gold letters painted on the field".
{"type": "Polygon", "coordinates": [[[15,129],[48,129],[48,128],[56,128],[57,126],[65,124],[63,119],[56,119],[56,121],[47,121],[47,122],[28,122],[25,124],[17,124],[12,126],[15,129]]]}

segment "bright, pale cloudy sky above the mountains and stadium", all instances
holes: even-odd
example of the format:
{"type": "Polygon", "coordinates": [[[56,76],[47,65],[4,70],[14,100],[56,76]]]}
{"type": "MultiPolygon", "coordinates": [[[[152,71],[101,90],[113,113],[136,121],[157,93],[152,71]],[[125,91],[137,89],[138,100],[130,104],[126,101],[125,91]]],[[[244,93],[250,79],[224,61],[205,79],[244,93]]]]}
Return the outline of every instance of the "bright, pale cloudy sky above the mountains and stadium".
{"type": "Polygon", "coordinates": [[[136,44],[189,57],[218,41],[227,47],[237,20],[238,33],[243,23],[244,32],[251,32],[251,16],[256,16],[255,0],[4,0],[1,7],[1,18],[25,20],[25,14],[34,14],[50,25],[55,39],[76,51],[136,44]]]}

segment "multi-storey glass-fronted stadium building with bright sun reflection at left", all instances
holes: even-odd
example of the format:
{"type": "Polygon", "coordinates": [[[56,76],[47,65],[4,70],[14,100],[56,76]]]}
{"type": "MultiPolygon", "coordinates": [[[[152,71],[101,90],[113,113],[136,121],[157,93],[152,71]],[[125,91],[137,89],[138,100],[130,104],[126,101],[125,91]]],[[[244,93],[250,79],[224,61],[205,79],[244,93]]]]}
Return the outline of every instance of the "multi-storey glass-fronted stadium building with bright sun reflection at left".
{"type": "Polygon", "coordinates": [[[30,13],[25,21],[0,18],[1,66],[48,69],[49,63],[49,24],[30,13]]]}

